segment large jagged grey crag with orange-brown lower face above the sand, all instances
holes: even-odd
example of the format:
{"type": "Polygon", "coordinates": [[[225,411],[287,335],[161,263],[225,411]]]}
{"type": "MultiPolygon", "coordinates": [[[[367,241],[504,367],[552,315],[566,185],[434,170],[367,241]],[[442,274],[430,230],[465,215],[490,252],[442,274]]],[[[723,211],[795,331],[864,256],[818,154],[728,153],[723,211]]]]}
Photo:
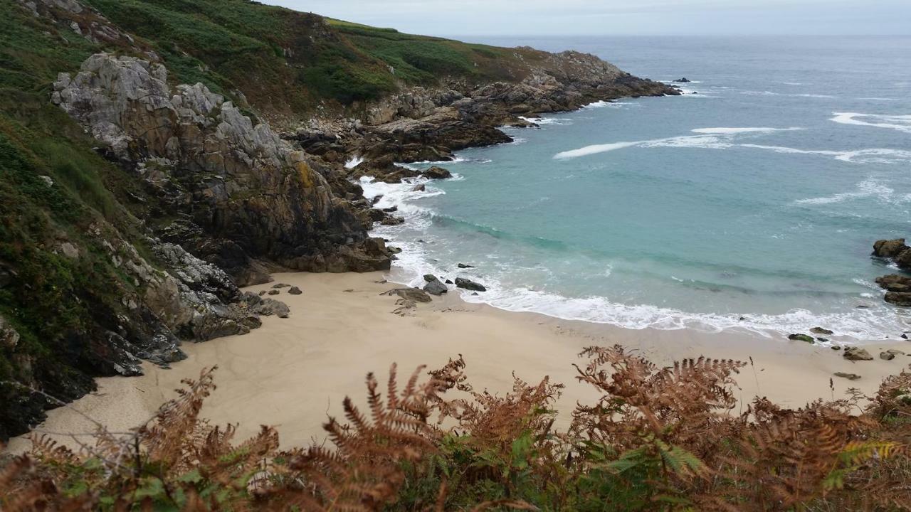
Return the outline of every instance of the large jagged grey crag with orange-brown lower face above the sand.
{"type": "Polygon", "coordinates": [[[304,153],[202,84],[172,90],[160,64],[97,54],[54,90],[54,103],[186,214],[171,240],[242,284],[261,279],[249,275],[253,258],[305,271],[389,267],[367,242],[368,221],[304,153]]]}

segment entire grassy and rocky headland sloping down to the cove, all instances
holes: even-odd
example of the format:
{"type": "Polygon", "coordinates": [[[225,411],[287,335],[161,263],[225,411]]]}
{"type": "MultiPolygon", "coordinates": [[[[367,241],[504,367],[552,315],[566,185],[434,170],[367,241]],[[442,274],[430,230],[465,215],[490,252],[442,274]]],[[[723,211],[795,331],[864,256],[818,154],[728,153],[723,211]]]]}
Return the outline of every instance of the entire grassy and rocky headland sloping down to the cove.
{"type": "Polygon", "coordinates": [[[271,270],[389,268],[368,235],[389,216],[353,178],[508,141],[518,116],[675,93],[594,56],[246,0],[0,5],[0,439],[54,406],[34,389],[71,400],[286,316],[238,289],[271,270]]]}

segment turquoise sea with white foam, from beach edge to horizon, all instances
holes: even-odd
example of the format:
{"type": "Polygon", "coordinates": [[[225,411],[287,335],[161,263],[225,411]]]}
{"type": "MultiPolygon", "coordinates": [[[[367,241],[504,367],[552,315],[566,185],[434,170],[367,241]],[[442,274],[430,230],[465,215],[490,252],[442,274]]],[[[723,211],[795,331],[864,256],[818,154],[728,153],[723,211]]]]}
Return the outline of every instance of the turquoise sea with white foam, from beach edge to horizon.
{"type": "Polygon", "coordinates": [[[632,328],[902,332],[869,254],[911,235],[911,38],[486,42],[574,47],[698,94],[507,129],[426,193],[365,184],[408,220],[377,231],[405,250],[395,279],[464,275],[491,288],[469,301],[632,328]]]}

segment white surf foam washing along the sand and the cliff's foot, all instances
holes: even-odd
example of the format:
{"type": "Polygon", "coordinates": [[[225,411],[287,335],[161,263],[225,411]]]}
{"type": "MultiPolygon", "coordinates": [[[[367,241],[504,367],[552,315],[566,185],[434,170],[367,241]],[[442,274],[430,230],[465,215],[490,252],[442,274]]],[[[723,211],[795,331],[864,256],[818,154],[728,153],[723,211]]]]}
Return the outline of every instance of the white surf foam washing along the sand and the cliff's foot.
{"type": "MultiPolygon", "coordinates": [[[[682,312],[649,304],[622,304],[611,302],[603,296],[566,297],[558,293],[542,292],[527,287],[510,287],[496,278],[493,271],[480,269],[456,270],[455,261],[438,261],[441,255],[431,253],[436,240],[431,230],[435,212],[420,204],[421,199],[445,194],[445,191],[427,186],[425,192],[414,191],[417,182],[429,183],[418,178],[403,183],[384,183],[371,178],[360,180],[364,197],[373,199],[378,195],[383,198],[376,204],[378,208],[396,207],[397,213],[404,216],[405,223],[397,226],[378,226],[374,229],[377,236],[382,236],[403,251],[394,261],[393,270],[388,279],[409,286],[422,286],[427,273],[447,275],[456,272],[484,282],[488,291],[473,295],[471,292],[458,291],[466,302],[486,303],[511,312],[537,312],[551,317],[604,323],[627,329],[679,330],[696,329],[702,332],[719,333],[727,330],[756,333],[764,337],[805,332],[814,325],[824,325],[844,338],[860,340],[881,340],[884,333],[900,333],[905,325],[901,323],[894,311],[884,303],[868,309],[855,309],[841,313],[814,313],[795,309],[782,314],[717,314],[682,312]],[[422,241],[415,241],[415,231],[423,233],[422,241]]],[[[874,181],[865,187],[873,191],[878,185],[874,181]]],[[[880,190],[882,191],[882,190],[880,190]]],[[[866,192],[864,192],[866,193],[866,192]]],[[[807,200],[806,202],[811,202],[807,200]]],[[[500,269],[508,271],[508,268],[500,269]]],[[[608,269],[607,275],[611,269],[608,269]]],[[[866,286],[871,290],[866,295],[881,293],[877,288],[866,286]]],[[[860,297],[858,297],[860,298],[860,297]]],[[[839,340],[839,343],[843,343],[839,340]]]]}

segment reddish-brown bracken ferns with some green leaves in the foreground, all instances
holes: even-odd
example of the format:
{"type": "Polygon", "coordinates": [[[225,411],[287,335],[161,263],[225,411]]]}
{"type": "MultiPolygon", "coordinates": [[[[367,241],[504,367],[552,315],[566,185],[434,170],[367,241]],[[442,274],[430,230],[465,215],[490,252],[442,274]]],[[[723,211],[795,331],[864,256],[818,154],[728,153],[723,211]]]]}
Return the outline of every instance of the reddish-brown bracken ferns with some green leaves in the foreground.
{"type": "Polygon", "coordinates": [[[99,425],[77,452],[34,437],[0,470],[0,509],[911,510],[911,373],[869,400],[757,398],[737,415],[742,363],[582,355],[578,380],[601,398],[567,432],[562,384],[478,392],[460,357],[404,386],[394,365],[384,389],[368,375],[365,409],[346,399],[328,444],[292,449],[271,427],[238,443],[201,419],[205,371],[128,434],[99,425]]]}

